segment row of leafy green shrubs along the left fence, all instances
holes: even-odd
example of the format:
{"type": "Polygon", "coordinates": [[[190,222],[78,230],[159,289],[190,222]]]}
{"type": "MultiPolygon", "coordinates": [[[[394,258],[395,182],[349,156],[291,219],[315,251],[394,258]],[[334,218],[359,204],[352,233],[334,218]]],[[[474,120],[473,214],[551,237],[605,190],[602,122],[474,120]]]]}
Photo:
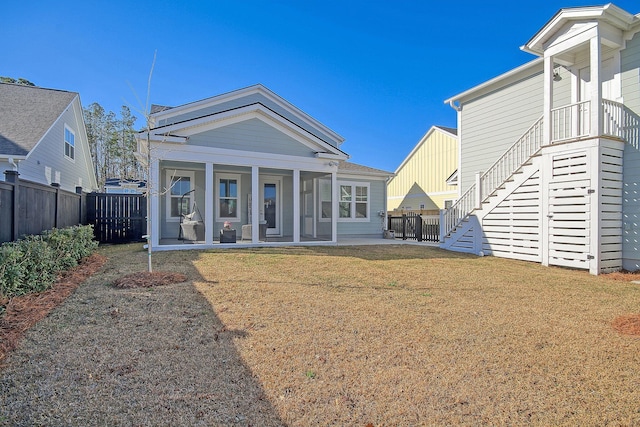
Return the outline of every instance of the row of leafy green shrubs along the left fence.
{"type": "Polygon", "coordinates": [[[0,246],[0,297],[48,289],[58,273],[93,253],[92,226],[53,229],[0,246]]]}

